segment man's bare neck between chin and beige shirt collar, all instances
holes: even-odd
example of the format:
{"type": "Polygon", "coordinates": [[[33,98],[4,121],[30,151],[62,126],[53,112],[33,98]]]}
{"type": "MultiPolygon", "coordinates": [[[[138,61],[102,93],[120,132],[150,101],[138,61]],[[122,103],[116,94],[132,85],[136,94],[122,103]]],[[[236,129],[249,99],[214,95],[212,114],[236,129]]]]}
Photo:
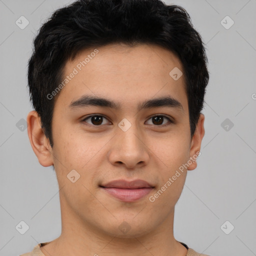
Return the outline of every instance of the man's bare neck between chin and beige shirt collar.
{"type": "MultiPolygon", "coordinates": [[[[64,209],[64,207],[61,207],[64,209]]],[[[62,230],[58,238],[40,250],[45,256],[185,256],[187,249],[173,236],[174,209],[156,229],[123,237],[104,233],[70,211],[61,211],[62,230]]]]}

